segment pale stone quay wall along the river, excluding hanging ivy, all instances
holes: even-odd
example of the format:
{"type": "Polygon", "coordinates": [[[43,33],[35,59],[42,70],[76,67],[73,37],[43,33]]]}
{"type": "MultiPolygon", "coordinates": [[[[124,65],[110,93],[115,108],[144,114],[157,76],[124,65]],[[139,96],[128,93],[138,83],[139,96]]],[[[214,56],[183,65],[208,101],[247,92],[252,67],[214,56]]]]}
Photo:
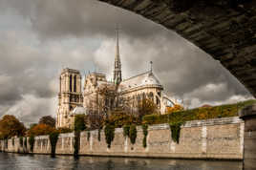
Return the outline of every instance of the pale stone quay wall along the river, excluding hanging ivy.
{"type": "MultiPolygon", "coordinates": [[[[80,135],[79,155],[83,156],[115,156],[143,157],[165,159],[243,159],[244,157],[245,123],[239,117],[224,117],[208,120],[187,121],[181,126],[179,144],[171,138],[168,124],[148,127],[147,147],[142,145],[143,132],[137,127],[136,143],[123,137],[122,128],[115,130],[115,138],[111,148],[107,147],[103,130],[100,132],[85,131],[80,135]]],[[[55,153],[58,155],[74,154],[74,133],[60,134],[55,153]]],[[[20,145],[19,138],[1,140],[0,151],[30,152],[27,138],[27,149],[20,145]],[[14,145],[13,145],[14,144],[14,145]]],[[[51,143],[48,136],[35,138],[33,153],[50,154],[51,143]]]]}

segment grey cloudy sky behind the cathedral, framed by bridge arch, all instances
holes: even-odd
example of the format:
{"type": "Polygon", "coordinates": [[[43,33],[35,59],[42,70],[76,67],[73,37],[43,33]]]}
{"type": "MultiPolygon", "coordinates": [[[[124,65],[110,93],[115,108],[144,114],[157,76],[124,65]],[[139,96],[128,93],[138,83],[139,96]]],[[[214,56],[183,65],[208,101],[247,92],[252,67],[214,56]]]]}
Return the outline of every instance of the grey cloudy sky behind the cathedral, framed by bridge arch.
{"type": "Polygon", "coordinates": [[[0,0],[0,116],[55,116],[62,68],[111,77],[120,27],[122,74],[148,71],[193,108],[251,98],[218,61],[175,32],[96,0],[0,0]]]}

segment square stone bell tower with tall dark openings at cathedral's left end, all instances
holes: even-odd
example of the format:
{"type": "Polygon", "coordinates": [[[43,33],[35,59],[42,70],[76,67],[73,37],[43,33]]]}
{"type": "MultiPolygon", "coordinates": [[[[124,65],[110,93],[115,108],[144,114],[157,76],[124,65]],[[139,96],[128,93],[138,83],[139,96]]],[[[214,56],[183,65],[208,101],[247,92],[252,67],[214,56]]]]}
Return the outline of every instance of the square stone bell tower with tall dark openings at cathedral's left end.
{"type": "Polygon", "coordinates": [[[81,74],[73,69],[63,69],[59,76],[56,127],[69,127],[70,112],[82,102],[81,74]]]}

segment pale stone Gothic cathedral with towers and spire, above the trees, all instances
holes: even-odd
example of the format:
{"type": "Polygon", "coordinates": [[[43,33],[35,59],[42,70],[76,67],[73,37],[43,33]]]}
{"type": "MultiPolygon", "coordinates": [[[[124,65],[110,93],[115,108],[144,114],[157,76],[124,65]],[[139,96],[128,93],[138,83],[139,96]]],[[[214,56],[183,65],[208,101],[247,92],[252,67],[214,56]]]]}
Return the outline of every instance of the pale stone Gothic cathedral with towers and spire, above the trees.
{"type": "MultiPolygon", "coordinates": [[[[118,32],[115,55],[113,80],[108,81],[106,74],[91,73],[85,75],[82,91],[82,76],[74,69],[63,69],[59,76],[58,109],[56,127],[72,127],[76,114],[87,114],[88,108],[98,109],[102,87],[114,87],[121,98],[129,101],[131,108],[136,108],[143,98],[154,101],[160,114],[164,114],[166,107],[172,107],[176,101],[163,93],[159,79],[151,70],[122,79],[121,62],[119,55],[118,32]]],[[[106,103],[104,103],[106,104],[106,103]]]]}

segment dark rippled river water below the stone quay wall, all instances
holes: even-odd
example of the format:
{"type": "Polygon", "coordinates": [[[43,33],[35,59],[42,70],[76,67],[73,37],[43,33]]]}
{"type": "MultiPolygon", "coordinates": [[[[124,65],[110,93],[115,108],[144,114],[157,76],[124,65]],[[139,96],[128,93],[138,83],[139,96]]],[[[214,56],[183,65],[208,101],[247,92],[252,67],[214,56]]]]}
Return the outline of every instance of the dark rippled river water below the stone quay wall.
{"type": "Polygon", "coordinates": [[[241,161],[125,159],[0,153],[0,170],[242,170],[241,161]]]}

